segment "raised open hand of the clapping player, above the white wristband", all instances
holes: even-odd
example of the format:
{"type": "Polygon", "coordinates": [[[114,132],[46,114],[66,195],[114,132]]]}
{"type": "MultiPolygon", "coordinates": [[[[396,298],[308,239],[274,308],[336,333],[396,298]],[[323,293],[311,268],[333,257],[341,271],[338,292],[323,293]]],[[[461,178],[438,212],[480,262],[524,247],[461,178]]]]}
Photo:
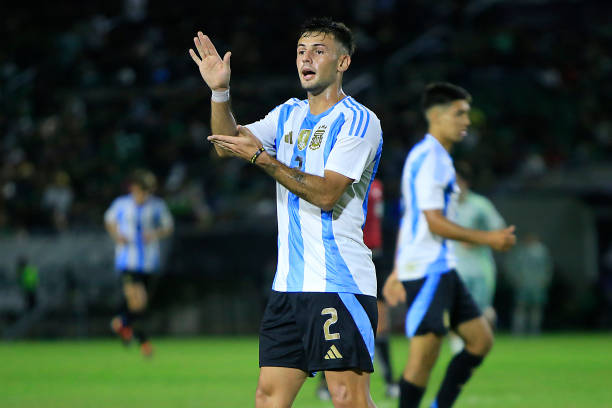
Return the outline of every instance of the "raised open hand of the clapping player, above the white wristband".
{"type": "Polygon", "coordinates": [[[231,52],[226,52],[223,59],[219,56],[217,49],[207,35],[198,31],[198,36],[193,38],[198,54],[190,48],[189,55],[198,65],[200,74],[206,85],[215,91],[224,91],[229,88],[230,81],[230,56],[231,52]]]}

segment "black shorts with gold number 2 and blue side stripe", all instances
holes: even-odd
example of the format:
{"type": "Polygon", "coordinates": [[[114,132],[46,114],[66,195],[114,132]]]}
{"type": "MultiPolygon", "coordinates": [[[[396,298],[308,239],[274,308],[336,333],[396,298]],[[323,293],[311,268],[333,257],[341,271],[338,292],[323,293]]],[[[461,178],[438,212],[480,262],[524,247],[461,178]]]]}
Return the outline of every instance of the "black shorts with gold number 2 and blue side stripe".
{"type": "Polygon", "coordinates": [[[374,371],[376,298],[272,291],[259,332],[259,366],[374,371]]]}

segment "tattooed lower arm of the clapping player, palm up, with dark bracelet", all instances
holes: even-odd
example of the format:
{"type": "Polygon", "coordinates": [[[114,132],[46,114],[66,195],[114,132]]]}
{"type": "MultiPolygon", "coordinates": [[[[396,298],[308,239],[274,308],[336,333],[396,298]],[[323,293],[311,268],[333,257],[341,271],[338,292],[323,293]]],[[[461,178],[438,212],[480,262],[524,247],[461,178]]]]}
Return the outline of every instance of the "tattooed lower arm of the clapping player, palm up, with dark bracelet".
{"type": "MultiPolygon", "coordinates": [[[[250,161],[262,146],[259,139],[244,126],[238,126],[237,136],[212,135],[208,137],[208,140],[215,145],[217,150],[224,150],[227,155],[240,157],[247,161],[250,161]]],[[[354,181],[331,170],[325,170],[323,177],[308,174],[286,166],[267,152],[259,154],[255,159],[255,164],[293,194],[324,211],[331,211],[344,190],[354,181]]]]}

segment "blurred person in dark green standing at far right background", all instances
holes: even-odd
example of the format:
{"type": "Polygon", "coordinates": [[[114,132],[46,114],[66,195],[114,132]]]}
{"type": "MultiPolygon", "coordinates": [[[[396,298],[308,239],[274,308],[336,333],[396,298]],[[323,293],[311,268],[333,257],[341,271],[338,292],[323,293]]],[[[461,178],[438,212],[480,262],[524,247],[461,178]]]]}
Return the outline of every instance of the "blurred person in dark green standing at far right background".
{"type": "Polygon", "coordinates": [[[536,234],[527,233],[507,254],[506,269],[515,294],[512,332],[539,334],[553,273],[548,249],[536,234]]]}

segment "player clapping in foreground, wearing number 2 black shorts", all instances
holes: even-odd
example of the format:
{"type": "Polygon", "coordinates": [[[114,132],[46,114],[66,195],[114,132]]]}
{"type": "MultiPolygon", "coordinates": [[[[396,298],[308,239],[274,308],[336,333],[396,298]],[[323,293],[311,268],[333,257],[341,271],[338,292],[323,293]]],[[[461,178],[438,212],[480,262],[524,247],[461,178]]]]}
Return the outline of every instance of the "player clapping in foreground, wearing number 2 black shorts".
{"type": "Polygon", "coordinates": [[[368,190],[382,151],[376,115],[342,90],[354,40],[342,23],[302,27],[296,65],[307,99],[236,126],[230,53],[207,36],[190,50],[212,90],[210,140],[220,156],[259,166],[276,181],[278,263],[260,330],[255,405],[291,406],[325,371],[336,407],[373,407],[376,272],[363,242],[368,190]]]}

